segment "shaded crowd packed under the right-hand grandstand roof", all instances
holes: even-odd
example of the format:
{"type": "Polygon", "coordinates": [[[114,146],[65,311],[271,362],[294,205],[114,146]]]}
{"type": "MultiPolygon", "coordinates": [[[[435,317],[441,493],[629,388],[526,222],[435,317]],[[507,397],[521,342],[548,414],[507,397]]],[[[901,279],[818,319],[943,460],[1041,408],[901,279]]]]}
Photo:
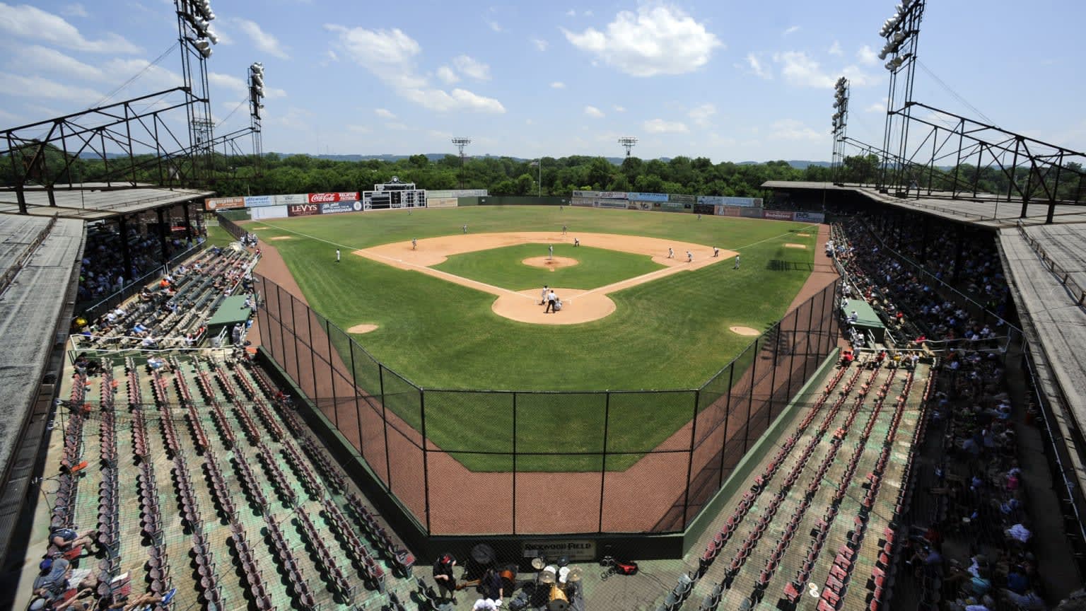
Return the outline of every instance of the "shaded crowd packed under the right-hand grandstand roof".
{"type": "MultiPolygon", "coordinates": [[[[993,350],[994,338],[1006,335],[1001,321],[992,324],[971,316],[961,303],[942,296],[931,276],[882,252],[874,232],[862,216],[833,226],[826,254],[837,259],[848,275],[846,283],[853,283],[844,300],[867,301],[912,346],[965,340],[940,352],[931,417],[944,432],[933,436],[942,451],[932,459],[932,486],[919,490],[931,495],[934,510],[914,518],[914,535],[902,554],[920,593],[920,608],[1047,609],[1025,511],[1003,354],[993,350]]],[[[929,247],[926,271],[949,278],[955,272],[954,240],[930,240],[937,246],[929,247]]],[[[919,246],[902,250],[919,259],[919,246]]],[[[959,280],[969,292],[983,296],[989,311],[1005,312],[1007,284],[994,246],[965,245],[960,265],[959,280]]]]}

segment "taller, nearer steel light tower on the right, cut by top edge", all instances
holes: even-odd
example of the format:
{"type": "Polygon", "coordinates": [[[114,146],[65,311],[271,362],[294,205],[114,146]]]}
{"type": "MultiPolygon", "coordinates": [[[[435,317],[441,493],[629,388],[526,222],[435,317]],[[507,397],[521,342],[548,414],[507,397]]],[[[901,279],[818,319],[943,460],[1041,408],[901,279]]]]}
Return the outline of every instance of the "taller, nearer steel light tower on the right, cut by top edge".
{"type": "Polygon", "coordinates": [[[886,126],[883,133],[883,164],[879,177],[879,188],[888,192],[891,187],[908,185],[909,115],[912,112],[912,82],[917,73],[917,38],[920,36],[920,20],[924,16],[924,0],[901,0],[895,13],[879,30],[886,39],[880,60],[886,62],[889,71],[889,93],[886,96],[886,126]],[[898,78],[902,78],[900,86],[898,78]],[[895,116],[900,120],[895,121],[895,116]],[[895,125],[895,124],[899,125],[895,125]]]}

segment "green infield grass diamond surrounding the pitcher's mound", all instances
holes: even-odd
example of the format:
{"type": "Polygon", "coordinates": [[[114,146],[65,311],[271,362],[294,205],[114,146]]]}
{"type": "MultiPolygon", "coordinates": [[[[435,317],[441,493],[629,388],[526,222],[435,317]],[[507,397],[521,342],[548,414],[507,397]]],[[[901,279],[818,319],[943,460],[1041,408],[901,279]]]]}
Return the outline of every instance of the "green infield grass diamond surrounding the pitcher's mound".
{"type": "Polygon", "coordinates": [[[522,263],[532,257],[547,257],[545,244],[521,244],[450,257],[435,269],[509,290],[540,288],[596,288],[655,272],[664,265],[646,254],[633,254],[572,244],[554,245],[555,257],[576,259],[577,265],[554,271],[522,263]]]}

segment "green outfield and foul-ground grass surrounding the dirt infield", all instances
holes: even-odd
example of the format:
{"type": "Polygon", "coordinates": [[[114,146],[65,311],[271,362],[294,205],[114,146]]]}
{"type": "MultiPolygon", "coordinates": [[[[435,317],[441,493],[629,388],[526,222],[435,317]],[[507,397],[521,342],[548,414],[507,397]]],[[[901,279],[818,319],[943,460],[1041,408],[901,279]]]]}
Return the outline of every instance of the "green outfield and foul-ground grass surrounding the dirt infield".
{"type": "MultiPolygon", "coordinates": [[[[544,207],[338,214],[249,226],[267,227],[258,232],[265,240],[292,237],[269,244],[282,253],[314,310],[344,329],[359,322],[379,325],[355,339],[386,366],[427,388],[428,436],[477,471],[509,469],[508,457],[470,452],[513,450],[513,394],[431,388],[698,387],[750,342],[749,337],[730,332],[730,326],[765,329],[785,313],[809,275],[817,235],[816,227],[800,223],[544,207]],[[577,232],[670,238],[738,250],[743,263],[733,270],[731,261],[723,261],[632,287],[610,296],[617,311],[605,319],[550,326],[494,314],[492,295],[349,254],[350,249],[413,237],[458,234],[464,224],[471,233],[560,230],[566,224],[570,239],[577,232]],[[804,229],[810,236],[796,235],[804,229]],[[786,242],[807,249],[785,248],[786,242]],[[344,249],[339,264],[337,246],[344,249]]],[[[517,265],[534,272],[520,259],[517,265]]],[[[528,288],[535,286],[534,278],[525,282],[528,288]]],[[[345,353],[341,344],[333,340],[345,353]]],[[[372,381],[368,384],[375,386],[376,367],[362,361],[356,354],[359,381],[372,381]]],[[[376,395],[379,388],[367,390],[376,395]]],[[[603,394],[517,395],[517,451],[603,451],[603,394]]],[[[417,391],[389,396],[387,406],[420,427],[417,391]]],[[[641,452],[686,423],[693,410],[692,392],[611,395],[606,449],[630,454],[608,457],[607,469],[633,464],[641,452]]],[[[598,456],[521,456],[517,469],[598,470],[601,462],[598,456]]]]}

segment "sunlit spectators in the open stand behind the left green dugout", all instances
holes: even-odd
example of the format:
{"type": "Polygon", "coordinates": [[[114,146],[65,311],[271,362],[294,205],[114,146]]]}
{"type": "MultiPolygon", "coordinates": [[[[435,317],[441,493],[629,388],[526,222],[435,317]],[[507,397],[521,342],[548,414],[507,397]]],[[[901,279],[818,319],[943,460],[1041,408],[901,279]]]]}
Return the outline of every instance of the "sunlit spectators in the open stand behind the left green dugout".
{"type": "MultiPolygon", "coordinates": [[[[214,247],[144,286],[136,300],[88,321],[78,334],[85,348],[186,348],[198,345],[205,322],[226,297],[251,294],[254,254],[214,247]]],[[[252,298],[250,309],[255,308],[252,298]]],[[[252,319],[250,319],[252,321],[252,319]]],[[[233,329],[240,339],[243,329],[233,329]]]]}

